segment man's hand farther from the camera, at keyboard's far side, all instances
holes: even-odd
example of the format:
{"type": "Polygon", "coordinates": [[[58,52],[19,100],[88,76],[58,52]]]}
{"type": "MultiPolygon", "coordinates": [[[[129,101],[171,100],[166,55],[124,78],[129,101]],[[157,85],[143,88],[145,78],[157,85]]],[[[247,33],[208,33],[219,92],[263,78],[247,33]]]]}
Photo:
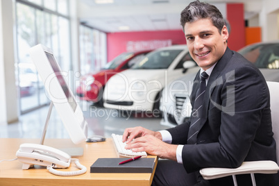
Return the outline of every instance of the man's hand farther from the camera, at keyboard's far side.
{"type": "Polygon", "coordinates": [[[127,144],[130,143],[132,140],[134,140],[137,137],[142,137],[146,135],[153,135],[154,137],[157,137],[159,140],[162,140],[162,135],[159,132],[154,132],[152,130],[148,130],[146,128],[143,128],[141,126],[137,126],[134,128],[126,128],[123,133],[123,142],[126,142],[127,144]]]}

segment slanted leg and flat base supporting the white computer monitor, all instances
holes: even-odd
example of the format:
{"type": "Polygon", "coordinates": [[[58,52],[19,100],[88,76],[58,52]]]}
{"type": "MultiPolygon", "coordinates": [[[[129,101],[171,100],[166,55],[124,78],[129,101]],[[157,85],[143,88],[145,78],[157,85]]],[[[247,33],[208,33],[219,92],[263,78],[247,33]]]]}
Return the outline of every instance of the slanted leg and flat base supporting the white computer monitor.
{"type": "MultiPolygon", "coordinates": [[[[53,108],[53,102],[51,101],[51,103],[49,105],[49,112],[47,113],[47,119],[46,119],[46,122],[44,124],[44,130],[42,131],[42,137],[41,137],[41,140],[40,140],[40,144],[44,144],[44,138],[46,137],[47,127],[49,126],[49,119],[51,117],[52,108],[53,108]]],[[[64,151],[65,153],[71,155],[72,158],[83,156],[83,148],[82,147],[65,148],[65,149],[60,149],[60,151],[64,151]]]]}

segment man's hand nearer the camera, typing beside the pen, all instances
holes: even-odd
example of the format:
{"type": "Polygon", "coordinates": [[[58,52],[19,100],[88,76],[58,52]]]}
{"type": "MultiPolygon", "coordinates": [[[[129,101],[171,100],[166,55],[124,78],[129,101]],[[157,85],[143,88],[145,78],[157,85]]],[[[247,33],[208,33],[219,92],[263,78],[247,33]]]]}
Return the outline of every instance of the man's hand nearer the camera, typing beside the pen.
{"type": "Polygon", "coordinates": [[[167,158],[176,161],[177,145],[162,142],[153,135],[144,135],[137,137],[125,146],[126,149],[132,149],[134,152],[146,151],[151,155],[158,155],[159,158],[167,158]]]}

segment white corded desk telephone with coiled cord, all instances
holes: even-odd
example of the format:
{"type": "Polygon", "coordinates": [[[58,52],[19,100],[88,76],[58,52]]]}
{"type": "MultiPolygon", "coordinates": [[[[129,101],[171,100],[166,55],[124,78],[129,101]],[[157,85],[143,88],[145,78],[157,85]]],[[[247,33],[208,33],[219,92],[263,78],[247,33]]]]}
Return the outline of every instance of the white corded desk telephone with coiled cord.
{"type": "Polygon", "coordinates": [[[34,164],[47,167],[47,169],[58,176],[75,176],[84,174],[87,169],[77,159],[72,159],[67,153],[42,144],[21,144],[16,153],[17,159],[23,162],[22,169],[29,169],[34,164]],[[81,171],[56,171],[53,168],[67,168],[75,160],[75,164],[81,171]]]}

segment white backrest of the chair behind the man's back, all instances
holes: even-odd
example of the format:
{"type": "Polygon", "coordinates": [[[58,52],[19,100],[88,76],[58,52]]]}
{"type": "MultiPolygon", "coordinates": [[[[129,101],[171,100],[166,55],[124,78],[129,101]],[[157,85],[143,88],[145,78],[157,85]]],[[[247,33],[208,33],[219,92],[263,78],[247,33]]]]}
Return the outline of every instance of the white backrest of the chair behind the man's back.
{"type": "Polygon", "coordinates": [[[273,137],[276,141],[277,162],[279,162],[279,83],[267,81],[270,93],[273,137]]]}

